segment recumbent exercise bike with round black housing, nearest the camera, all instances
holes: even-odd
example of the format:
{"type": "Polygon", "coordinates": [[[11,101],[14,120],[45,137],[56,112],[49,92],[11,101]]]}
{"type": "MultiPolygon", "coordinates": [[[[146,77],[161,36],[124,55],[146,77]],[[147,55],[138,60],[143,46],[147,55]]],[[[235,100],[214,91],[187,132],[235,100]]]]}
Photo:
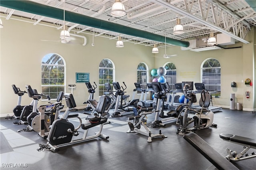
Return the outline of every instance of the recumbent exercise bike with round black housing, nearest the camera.
{"type": "MultiPolygon", "coordinates": [[[[42,144],[40,144],[41,145],[40,147],[49,148],[53,152],[56,152],[59,150],[60,147],[69,146],[72,144],[78,144],[96,137],[101,137],[104,139],[109,138],[109,136],[101,134],[103,125],[108,120],[108,116],[105,115],[102,117],[102,114],[105,111],[106,102],[107,102],[107,99],[105,96],[101,96],[98,101],[97,107],[95,109],[98,114],[88,115],[86,118],[88,121],[86,123],[81,124],[82,129],[84,129],[84,134],[82,138],[76,139],[76,140],[72,140],[72,137],[79,135],[78,130],[75,129],[74,125],[68,122],[67,120],[68,115],[70,113],[70,109],[76,107],[76,103],[72,94],[65,93],[64,96],[65,96],[66,105],[68,108],[66,109],[63,117],[61,119],[54,121],[54,123],[52,124],[52,128],[50,129],[50,132],[48,134],[47,144],[43,147],[42,147],[42,144]],[[95,135],[87,136],[88,130],[97,125],[100,125],[99,131],[96,132],[95,135]]],[[[38,151],[39,150],[42,150],[42,149],[40,148],[38,149],[38,151]]]]}

